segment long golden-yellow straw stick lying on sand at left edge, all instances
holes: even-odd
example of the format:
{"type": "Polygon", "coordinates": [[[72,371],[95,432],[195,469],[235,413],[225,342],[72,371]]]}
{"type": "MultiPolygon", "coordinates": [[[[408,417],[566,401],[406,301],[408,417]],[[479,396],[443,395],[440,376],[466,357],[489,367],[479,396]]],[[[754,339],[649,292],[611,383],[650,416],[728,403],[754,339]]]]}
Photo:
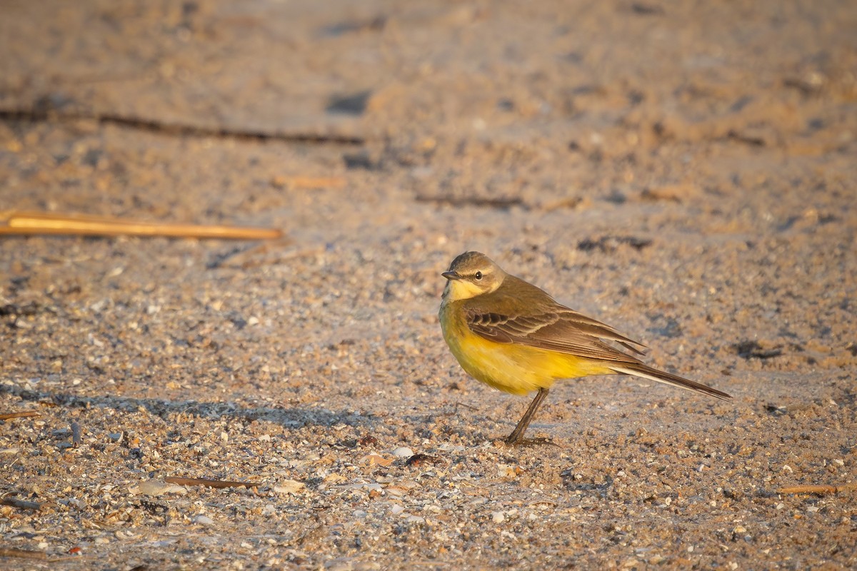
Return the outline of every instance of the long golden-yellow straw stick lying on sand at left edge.
{"type": "Polygon", "coordinates": [[[283,231],[272,228],[140,222],[122,218],[89,216],[86,214],[0,211],[0,235],[39,234],[271,240],[282,237],[283,231]]]}

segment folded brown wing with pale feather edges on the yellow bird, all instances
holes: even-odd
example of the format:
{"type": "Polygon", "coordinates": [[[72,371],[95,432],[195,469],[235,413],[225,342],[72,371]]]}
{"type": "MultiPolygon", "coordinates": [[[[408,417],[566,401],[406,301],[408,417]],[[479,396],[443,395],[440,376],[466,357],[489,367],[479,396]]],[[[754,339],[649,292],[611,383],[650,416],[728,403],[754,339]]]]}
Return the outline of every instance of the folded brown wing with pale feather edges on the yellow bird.
{"type": "Polygon", "coordinates": [[[498,343],[521,343],[530,347],[575,354],[590,359],[616,360],[638,363],[607,342],[617,342],[635,354],[643,354],[644,347],[606,324],[587,318],[564,306],[556,305],[548,312],[537,315],[504,315],[466,311],[467,324],[478,336],[498,343]]]}

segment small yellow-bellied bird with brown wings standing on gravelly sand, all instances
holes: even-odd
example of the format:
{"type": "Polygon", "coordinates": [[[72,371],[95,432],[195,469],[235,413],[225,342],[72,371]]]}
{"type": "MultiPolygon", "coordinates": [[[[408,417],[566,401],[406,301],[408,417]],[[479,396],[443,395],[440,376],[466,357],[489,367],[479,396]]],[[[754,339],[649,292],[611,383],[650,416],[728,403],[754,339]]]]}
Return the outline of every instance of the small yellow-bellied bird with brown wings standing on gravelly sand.
{"type": "Polygon", "coordinates": [[[705,384],[646,365],[644,344],[563,306],[547,292],[503,271],[483,253],[465,252],[441,274],[440,329],[464,372],[513,395],[536,391],[506,444],[551,443],[524,438],[554,381],[592,375],[646,378],[728,401],[705,384]]]}

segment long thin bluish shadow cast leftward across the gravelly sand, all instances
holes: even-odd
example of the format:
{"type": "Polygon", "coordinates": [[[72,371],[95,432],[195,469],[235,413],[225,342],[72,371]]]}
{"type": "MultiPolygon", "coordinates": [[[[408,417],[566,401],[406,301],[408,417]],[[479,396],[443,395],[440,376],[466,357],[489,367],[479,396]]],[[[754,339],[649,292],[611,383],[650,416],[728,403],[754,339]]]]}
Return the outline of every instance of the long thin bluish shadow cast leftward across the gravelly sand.
{"type": "Polygon", "coordinates": [[[301,428],[307,425],[374,425],[378,421],[371,414],[355,413],[348,410],[242,407],[229,401],[168,401],[128,396],[78,396],[62,392],[24,389],[15,385],[0,385],[0,393],[17,396],[23,401],[50,402],[67,408],[112,408],[119,412],[131,413],[142,407],[148,413],[162,419],[169,419],[172,414],[185,413],[205,419],[260,420],[282,425],[286,428],[301,428]]]}

